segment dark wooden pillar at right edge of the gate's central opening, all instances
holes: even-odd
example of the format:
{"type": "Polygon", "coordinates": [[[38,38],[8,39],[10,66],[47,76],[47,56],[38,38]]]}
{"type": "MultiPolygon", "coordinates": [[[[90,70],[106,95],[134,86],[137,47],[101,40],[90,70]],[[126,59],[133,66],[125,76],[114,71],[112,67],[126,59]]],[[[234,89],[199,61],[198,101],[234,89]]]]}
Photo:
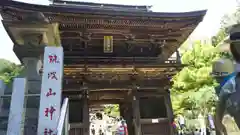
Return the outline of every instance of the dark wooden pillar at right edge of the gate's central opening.
{"type": "Polygon", "coordinates": [[[132,107],[133,107],[133,119],[134,119],[134,130],[135,135],[142,135],[141,123],[140,123],[140,109],[139,109],[139,97],[137,94],[137,89],[133,89],[132,93],[132,107]]]}

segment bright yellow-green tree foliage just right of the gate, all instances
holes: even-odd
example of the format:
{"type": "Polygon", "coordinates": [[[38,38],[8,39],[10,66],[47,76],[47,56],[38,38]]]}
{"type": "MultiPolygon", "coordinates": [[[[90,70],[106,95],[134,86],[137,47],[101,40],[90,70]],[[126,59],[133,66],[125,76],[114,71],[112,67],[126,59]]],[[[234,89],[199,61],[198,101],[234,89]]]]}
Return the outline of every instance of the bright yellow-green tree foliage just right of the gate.
{"type": "Polygon", "coordinates": [[[171,95],[175,113],[191,111],[197,116],[212,110],[217,83],[210,73],[212,62],[219,57],[214,46],[199,41],[182,55],[182,63],[187,66],[172,79],[171,95]]]}

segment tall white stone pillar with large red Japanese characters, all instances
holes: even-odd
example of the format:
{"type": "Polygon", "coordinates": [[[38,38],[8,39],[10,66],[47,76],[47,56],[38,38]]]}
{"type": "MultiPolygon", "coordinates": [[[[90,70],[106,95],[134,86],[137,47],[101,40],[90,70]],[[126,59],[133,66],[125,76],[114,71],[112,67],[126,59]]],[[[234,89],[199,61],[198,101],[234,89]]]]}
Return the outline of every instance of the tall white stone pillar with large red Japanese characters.
{"type": "Polygon", "coordinates": [[[38,135],[56,135],[63,73],[62,47],[46,47],[41,86],[38,135]]]}

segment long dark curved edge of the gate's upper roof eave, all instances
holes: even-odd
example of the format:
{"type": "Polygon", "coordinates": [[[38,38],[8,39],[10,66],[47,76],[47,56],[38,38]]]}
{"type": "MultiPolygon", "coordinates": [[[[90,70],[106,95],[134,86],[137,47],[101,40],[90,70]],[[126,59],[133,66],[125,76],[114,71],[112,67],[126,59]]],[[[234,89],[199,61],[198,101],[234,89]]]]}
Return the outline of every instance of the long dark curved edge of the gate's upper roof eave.
{"type": "Polygon", "coordinates": [[[186,17],[203,17],[207,10],[199,10],[192,12],[180,12],[180,13],[163,13],[163,12],[134,12],[134,11],[114,11],[114,10],[102,10],[91,9],[86,7],[58,7],[58,6],[46,6],[28,4],[17,1],[0,1],[1,8],[10,7],[20,10],[38,11],[38,12],[52,12],[52,13],[73,13],[73,14],[96,14],[96,15],[119,15],[119,16],[143,16],[143,17],[167,17],[167,18],[186,18],[186,17]],[[111,12],[109,12],[111,11],[111,12]]]}

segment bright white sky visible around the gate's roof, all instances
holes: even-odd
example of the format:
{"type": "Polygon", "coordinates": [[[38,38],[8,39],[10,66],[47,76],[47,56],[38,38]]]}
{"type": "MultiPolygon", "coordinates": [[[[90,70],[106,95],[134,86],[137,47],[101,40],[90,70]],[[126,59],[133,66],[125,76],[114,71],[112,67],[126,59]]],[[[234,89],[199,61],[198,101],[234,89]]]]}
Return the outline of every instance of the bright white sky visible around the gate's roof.
{"type": "MultiPolygon", "coordinates": [[[[48,0],[16,0],[32,4],[48,5],[48,0]]],[[[77,0],[76,0],[77,1],[77,0]]],[[[219,28],[224,14],[232,13],[236,9],[237,0],[82,0],[87,2],[125,4],[125,5],[152,5],[154,12],[187,12],[207,9],[203,21],[189,37],[191,40],[207,39],[214,36],[219,28]]],[[[1,49],[0,58],[19,63],[12,51],[13,43],[0,24],[1,49]]]]}

